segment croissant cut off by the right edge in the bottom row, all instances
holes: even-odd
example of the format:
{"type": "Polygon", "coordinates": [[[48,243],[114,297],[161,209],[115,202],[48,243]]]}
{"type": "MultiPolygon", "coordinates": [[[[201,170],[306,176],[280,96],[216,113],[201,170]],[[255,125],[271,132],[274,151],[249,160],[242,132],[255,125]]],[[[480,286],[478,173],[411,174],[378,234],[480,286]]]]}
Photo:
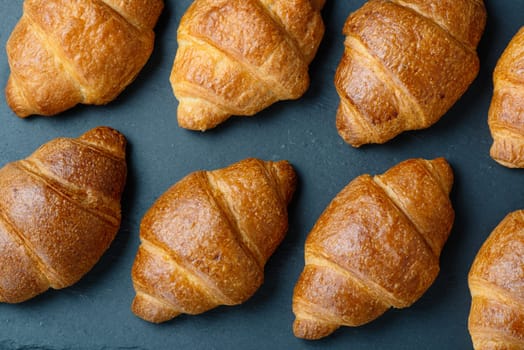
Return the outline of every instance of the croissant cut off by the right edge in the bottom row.
{"type": "Polygon", "coordinates": [[[510,213],[493,230],[468,283],[474,348],[524,349],[524,210],[510,213]]]}

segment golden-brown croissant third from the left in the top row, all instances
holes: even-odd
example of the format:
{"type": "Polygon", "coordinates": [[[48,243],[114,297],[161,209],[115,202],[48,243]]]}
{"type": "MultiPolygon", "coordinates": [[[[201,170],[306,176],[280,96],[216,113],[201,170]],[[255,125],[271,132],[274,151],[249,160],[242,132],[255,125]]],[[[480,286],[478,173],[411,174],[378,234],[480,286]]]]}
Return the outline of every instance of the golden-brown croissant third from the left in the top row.
{"type": "Polygon", "coordinates": [[[354,147],[436,123],[479,71],[482,0],[370,0],[344,24],[337,129],[354,147]]]}

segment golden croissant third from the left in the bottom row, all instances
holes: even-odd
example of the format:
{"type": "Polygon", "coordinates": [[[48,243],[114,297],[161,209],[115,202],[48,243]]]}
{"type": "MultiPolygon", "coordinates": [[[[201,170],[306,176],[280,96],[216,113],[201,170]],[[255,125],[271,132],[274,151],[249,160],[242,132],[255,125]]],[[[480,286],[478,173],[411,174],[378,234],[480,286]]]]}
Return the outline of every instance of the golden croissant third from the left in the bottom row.
{"type": "Polygon", "coordinates": [[[293,292],[295,336],[319,339],[405,308],[429,288],[454,211],[443,158],[362,175],[329,204],[306,239],[293,292]]]}

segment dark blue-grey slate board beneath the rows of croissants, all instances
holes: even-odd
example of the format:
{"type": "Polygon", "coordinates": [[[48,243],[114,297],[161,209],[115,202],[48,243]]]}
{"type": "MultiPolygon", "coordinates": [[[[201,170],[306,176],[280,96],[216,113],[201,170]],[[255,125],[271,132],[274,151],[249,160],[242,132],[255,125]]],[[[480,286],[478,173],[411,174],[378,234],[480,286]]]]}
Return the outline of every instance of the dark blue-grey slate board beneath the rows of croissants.
{"type": "MultiPolygon", "coordinates": [[[[492,71],[524,25],[524,0],[487,1],[488,22],[479,46],[481,71],[463,98],[433,127],[384,145],[353,149],[338,136],[339,102],[333,77],[343,50],[342,25],[364,1],[328,0],[326,35],[311,65],[311,87],[297,101],[280,102],[253,118],[233,118],[206,133],[176,123],[169,84],[176,29],[189,0],[167,0],[156,28],[155,51],[136,81],[107,106],[79,106],[54,118],[17,118],[0,99],[0,166],[24,158],[42,143],[76,137],[108,125],[129,141],[129,179],[116,240],[78,284],[48,291],[20,305],[0,305],[2,349],[467,349],[470,296],[467,273],[482,242],[510,211],[524,207],[524,173],[492,161],[487,112],[492,71]],[[303,244],[320,213],[350,180],[382,173],[414,157],[443,156],[455,172],[456,221],[433,286],[411,308],[375,322],[343,328],[321,341],[296,339],[291,296],[303,267],[303,244]],[[140,220],[170,185],[198,169],[224,167],[246,157],[288,159],[299,174],[290,229],[266,267],[266,280],[245,304],[219,307],[153,325],[130,311],[130,269],[140,220]]],[[[21,0],[0,0],[0,42],[22,12],[21,0]]],[[[9,67],[0,55],[0,81],[9,67]]]]}

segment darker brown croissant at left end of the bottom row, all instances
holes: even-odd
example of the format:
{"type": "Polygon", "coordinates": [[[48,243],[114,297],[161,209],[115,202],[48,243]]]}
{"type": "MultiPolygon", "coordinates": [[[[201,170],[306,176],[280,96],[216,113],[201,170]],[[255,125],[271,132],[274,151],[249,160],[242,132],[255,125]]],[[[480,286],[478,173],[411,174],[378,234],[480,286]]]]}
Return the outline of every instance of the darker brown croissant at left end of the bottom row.
{"type": "Polygon", "coordinates": [[[125,143],[99,127],[0,169],[0,302],[70,286],[100,259],[120,226],[125,143]]]}

